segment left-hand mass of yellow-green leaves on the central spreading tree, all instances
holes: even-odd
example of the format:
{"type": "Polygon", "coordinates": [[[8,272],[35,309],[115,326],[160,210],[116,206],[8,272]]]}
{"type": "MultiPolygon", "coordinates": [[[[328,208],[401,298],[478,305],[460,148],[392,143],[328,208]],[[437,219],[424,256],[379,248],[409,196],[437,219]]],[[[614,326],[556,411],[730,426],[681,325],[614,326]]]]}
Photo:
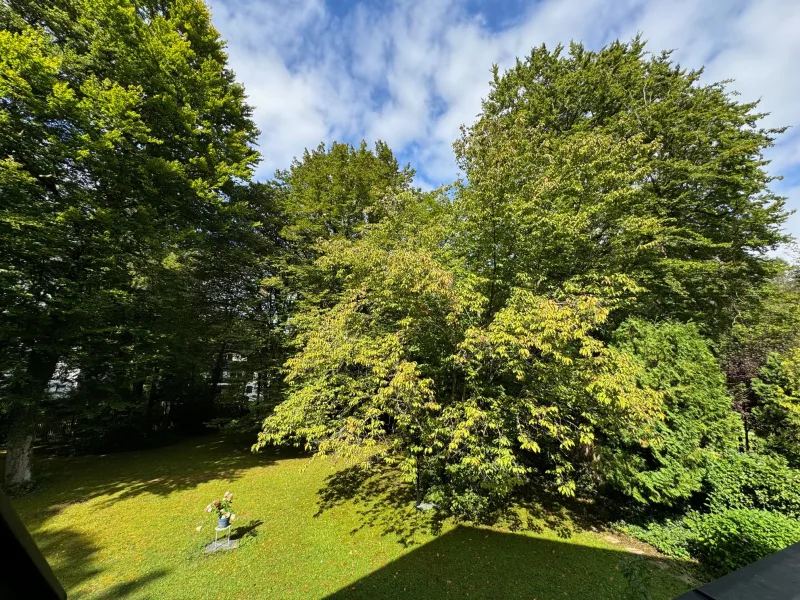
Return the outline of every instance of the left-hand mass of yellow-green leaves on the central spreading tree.
{"type": "Polygon", "coordinates": [[[427,336],[446,334],[457,305],[452,274],[422,248],[386,249],[372,237],[319,248],[317,268],[337,273],[344,289],[334,306],[298,316],[289,399],[264,423],[263,439],[350,457],[363,444],[389,450],[397,441],[400,452],[432,454],[441,401],[418,358],[428,358],[420,355],[427,336]]]}

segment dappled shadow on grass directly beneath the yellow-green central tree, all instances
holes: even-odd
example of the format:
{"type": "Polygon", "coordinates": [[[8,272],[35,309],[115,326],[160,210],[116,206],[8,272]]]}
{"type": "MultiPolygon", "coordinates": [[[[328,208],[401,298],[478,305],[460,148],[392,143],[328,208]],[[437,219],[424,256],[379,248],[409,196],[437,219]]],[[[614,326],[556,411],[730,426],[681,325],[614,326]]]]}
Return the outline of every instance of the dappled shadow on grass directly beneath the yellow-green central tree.
{"type": "Polygon", "coordinates": [[[319,493],[315,517],[344,503],[358,505],[360,525],[377,527],[383,535],[393,534],[405,545],[414,545],[418,534],[438,534],[445,515],[437,510],[419,511],[414,506],[411,486],[399,474],[375,465],[356,465],[337,471],[325,480],[319,493]]]}

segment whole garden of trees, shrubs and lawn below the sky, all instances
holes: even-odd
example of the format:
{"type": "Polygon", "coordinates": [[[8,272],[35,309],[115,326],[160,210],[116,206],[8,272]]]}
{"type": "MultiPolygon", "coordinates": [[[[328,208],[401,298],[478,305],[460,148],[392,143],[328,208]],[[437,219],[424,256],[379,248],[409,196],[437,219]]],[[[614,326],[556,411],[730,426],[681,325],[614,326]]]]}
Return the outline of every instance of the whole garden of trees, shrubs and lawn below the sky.
{"type": "Polygon", "coordinates": [[[70,597],[666,599],[800,542],[757,102],[539,44],[441,185],[352,132],[267,176],[231,65],[202,0],[0,2],[3,486],[70,597]]]}

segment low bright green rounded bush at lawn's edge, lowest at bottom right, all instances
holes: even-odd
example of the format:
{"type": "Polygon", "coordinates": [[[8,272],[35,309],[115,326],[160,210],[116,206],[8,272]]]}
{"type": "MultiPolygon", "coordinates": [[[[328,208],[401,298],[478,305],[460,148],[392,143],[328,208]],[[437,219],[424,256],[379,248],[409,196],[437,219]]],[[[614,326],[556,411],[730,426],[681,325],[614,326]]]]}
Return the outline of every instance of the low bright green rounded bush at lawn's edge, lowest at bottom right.
{"type": "Polygon", "coordinates": [[[715,576],[800,542],[800,521],[765,510],[689,515],[684,523],[692,556],[715,576]]]}

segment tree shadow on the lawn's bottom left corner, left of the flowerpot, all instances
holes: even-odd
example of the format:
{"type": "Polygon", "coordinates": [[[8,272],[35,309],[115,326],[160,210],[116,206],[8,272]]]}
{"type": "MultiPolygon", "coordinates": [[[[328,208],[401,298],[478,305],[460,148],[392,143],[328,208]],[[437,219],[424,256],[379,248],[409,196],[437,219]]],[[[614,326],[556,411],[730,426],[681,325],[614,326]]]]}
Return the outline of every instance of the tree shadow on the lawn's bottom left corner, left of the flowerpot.
{"type": "MultiPolygon", "coordinates": [[[[84,533],[65,527],[45,529],[34,532],[32,535],[61,585],[67,590],[69,598],[76,597],[75,590],[79,590],[84,584],[103,572],[102,565],[97,558],[99,548],[84,533]]],[[[165,569],[143,573],[136,579],[100,590],[92,594],[92,598],[96,600],[125,598],[135,591],[146,588],[166,574],[165,569]]],[[[86,595],[85,591],[82,595],[86,595]]]]}

